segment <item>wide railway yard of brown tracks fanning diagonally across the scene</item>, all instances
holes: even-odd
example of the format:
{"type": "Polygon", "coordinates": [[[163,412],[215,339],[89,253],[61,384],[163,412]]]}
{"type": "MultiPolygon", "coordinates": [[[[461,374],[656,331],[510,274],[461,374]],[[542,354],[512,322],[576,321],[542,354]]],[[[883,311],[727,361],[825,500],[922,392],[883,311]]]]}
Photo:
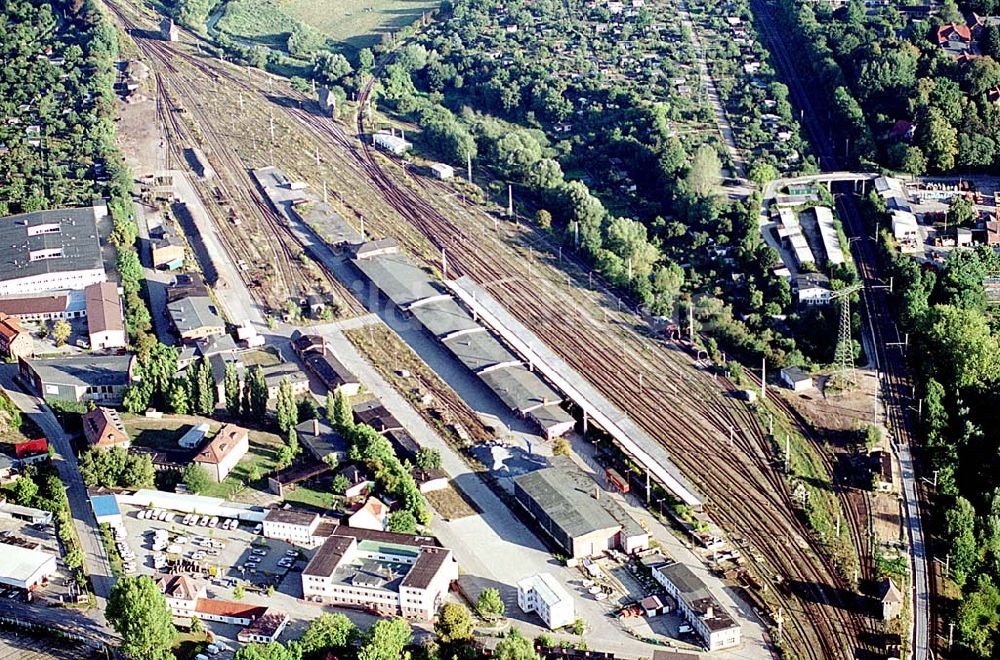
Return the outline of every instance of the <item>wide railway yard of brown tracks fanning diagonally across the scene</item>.
{"type": "MultiPolygon", "coordinates": [[[[875,622],[857,590],[877,577],[867,496],[838,483],[822,439],[780,395],[747,405],[734,396],[738,385],[713,376],[681,342],[654,337],[596,278],[592,287],[586,267],[543,233],[498,223],[448,184],[411,175],[359,140],[363,113],[354,125],[338,123],[286,81],[202,55],[188,34],[176,43],[149,38],[157,17],[109,6],[153,71],[168,167],[184,167],[186,149],[206,154],[214,177],[195,185],[262,308],[280,314],[290,298],[317,292],[341,317],[365,311],[357,283],[306,255],[258,191],[250,170],[275,165],[323,190],[343,218],[359,229],[364,222],[368,237],[397,239],[446,279],[474,280],[661,443],[704,494],[699,519],[752,548],[745,585],[773,641],[816,659],[855,657],[871,643],[875,622]],[[791,475],[782,469],[786,434],[804,438],[791,475]],[[809,478],[797,479],[803,465],[809,478]],[[811,530],[810,516],[829,529],[811,530]]],[[[459,415],[454,397],[445,400],[459,415]]]]}

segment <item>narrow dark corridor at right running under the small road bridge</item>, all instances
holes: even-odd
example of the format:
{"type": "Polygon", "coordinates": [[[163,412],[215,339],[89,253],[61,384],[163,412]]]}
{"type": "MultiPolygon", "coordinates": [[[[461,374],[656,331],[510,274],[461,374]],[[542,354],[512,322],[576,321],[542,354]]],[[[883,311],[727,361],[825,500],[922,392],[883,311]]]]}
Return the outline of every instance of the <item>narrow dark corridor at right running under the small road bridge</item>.
{"type": "MultiPolygon", "coordinates": [[[[786,51],[773,14],[773,7],[757,0],[753,11],[767,35],[767,41],[776,55],[775,66],[789,84],[792,98],[802,111],[804,125],[809,132],[813,147],[820,156],[820,162],[828,170],[824,176],[844,174],[844,168],[833,149],[828,126],[813,109],[812,99],[797,75],[792,58],[786,51]]],[[[862,176],[875,175],[864,173],[862,176]]],[[[882,395],[890,432],[893,434],[894,448],[902,467],[903,507],[907,522],[910,546],[910,564],[913,577],[913,604],[911,625],[911,648],[914,660],[925,660],[930,655],[931,599],[928,571],[927,546],[922,524],[920,492],[917,475],[910,454],[912,440],[911,418],[908,413],[910,386],[905,356],[900,346],[887,346],[886,341],[895,341],[896,325],[891,313],[891,303],[883,286],[879,270],[877,246],[864,225],[861,214],[851,195],[837,198],[838,211],[844,221],[844,231],[851,241],[851,252],[861,274],[865,288],[861,291],[862,325],[867,327],[875,345],[876,368],[883,373],[882,395]]]]}

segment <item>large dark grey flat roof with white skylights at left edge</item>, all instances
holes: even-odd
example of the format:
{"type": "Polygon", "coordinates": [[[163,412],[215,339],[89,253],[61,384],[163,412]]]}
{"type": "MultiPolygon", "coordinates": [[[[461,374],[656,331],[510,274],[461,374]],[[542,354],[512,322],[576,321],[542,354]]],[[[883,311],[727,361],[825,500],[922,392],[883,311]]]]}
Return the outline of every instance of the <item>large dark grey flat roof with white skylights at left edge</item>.
{"type": "Polygon", "coordinates": [[[94,207],[36,211],[0,218],[0,280],[36,277],[74,270],[104,269],[94,207]],[[50,226],[34,236],[29,232],[50,226]],[[61,256],[31,260],[38,250],[61,250],[61,256]]]}

